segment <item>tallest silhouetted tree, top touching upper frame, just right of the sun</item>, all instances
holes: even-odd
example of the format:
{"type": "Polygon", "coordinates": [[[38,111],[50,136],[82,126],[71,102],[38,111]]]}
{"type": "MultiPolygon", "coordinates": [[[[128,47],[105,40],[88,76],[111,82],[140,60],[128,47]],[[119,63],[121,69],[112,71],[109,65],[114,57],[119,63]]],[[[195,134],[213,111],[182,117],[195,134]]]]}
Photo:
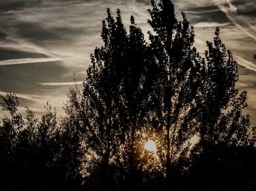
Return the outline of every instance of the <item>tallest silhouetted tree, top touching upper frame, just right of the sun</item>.
{"type": "Polygon", "coordinates": [[[154,103],[155,128],[160,130],[158,151],[166,169],[166,187],[175,182],[175,168],[182,153],[186,150],[191,136],[195,134],[197,97],[201,85],[201,63],[197,50],[193,47],[194,29],[189,27],[186,15],[177,21],[173,3],[161,0],[156,5],[152,1],[149,10],[151,20],[148,23],[154,29],[150,34],[150,46],[154,50],[158,64],[158,79],[154,85],[152,102],[154,103]]]}

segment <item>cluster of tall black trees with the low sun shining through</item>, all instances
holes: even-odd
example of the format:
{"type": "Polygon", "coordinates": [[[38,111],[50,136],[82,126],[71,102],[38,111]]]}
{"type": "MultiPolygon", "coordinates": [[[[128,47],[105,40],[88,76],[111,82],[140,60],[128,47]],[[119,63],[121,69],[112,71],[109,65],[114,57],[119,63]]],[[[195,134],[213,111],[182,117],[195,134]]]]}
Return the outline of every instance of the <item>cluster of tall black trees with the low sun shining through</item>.
{"type": "Polygon", "coordinates": [[[188,173],[192,136],[199,134],[200,143],[209,145],[221,138],[231,144],[236,134],[231,123],[248,131],[248,117],[241,115],[245,94],[236,100],[236,61],[225,50],[219,29],[202,59],[193,47],[195,34],[186,15],[182,12],[183,20],[177,21],[171,1],[162,0],[158,6],[152,1],[149,10],[148,23],[154,29],[150,44],[133,17],[127,34],[119,10],[115,20],[108,9],[102,23],[104,46],[91,55],[83,90],[85,120],[88,143],[100,156],[105,187],[111,165],[121,167],[128,185],[143,182],[139,171],[145,161],[145,132],[155,134],[170,189],[178,188],[188,173]],[[233,109],[222,114],[229,106],[233,109]]]}

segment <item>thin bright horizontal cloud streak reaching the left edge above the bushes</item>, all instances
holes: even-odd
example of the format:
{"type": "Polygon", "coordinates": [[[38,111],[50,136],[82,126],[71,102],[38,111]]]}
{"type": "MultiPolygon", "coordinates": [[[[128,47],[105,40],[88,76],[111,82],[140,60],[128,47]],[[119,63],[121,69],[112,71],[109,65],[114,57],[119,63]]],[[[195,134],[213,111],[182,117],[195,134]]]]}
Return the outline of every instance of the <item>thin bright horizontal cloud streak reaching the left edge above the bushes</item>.
{"type": "Polygon", "coordinates": [[[26,58],[26,59],[8,59],[0,61],[0,65],[13,65],[20,63],[38,63],[38,62],[48,62],[48,61],[59,61],[59,58],[26,58]]]}

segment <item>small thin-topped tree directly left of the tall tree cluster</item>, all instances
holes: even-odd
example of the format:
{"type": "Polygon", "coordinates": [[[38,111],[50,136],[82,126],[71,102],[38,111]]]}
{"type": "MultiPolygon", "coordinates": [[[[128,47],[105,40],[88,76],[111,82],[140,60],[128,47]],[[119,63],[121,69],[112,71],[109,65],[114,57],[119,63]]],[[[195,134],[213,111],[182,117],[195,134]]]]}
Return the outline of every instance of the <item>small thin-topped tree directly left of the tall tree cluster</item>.
{"type": "MultiPolygon", "coordinates": [[[[65,179],[81,181],[81,171],[86,149],[85,102],[83,93],[74,80],[74,87],[67,93],[68,100],[63,109],[65,116],[59,118],[57,144],[59,153],[55,165],[61,169],[65,179]]],[[[87,169],[85,169],[86,171],[87,169]]]]}

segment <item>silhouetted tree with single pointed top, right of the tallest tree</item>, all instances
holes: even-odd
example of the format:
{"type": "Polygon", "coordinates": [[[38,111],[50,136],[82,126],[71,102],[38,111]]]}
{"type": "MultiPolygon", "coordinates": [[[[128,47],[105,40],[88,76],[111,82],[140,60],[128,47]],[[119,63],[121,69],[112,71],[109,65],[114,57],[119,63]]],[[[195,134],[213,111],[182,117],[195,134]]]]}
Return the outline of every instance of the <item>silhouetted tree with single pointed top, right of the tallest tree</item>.
{"type": "MultiPolygon", "coordinates": [[[[201,138],[212,144],[218,141],[215,130],[218,128],[218,119],[222,111],[232,106],[232,99],[238,95],[238,89],[235,87],[238,80],[238,64],[233,60],[231,51],[226,50],[219,34],[220,29],[217,27],[214,44],[206,42],[208,50],[205,51],[205,59],[202,59],[205,65],[201,87],[203,96],[199,102],[202,117],[200,120],[201,138]],[[203,113],[209,115],[203,115],[203,113]]],[[[244,99],[243,94],[242,99],[244,99]]]]}

